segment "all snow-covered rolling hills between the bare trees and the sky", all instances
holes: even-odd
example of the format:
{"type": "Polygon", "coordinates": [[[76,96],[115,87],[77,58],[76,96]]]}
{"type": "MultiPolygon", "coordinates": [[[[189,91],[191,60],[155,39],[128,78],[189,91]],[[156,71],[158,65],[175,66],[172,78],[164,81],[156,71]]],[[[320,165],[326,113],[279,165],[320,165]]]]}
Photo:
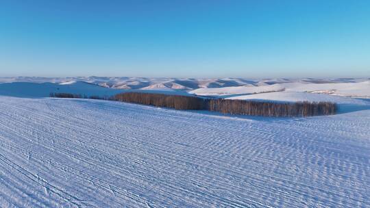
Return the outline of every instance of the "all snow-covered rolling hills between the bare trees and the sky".
{"type": "MultiPolygon", "coordinates": [[[[269,101],[333,101],[338,104],[354,104],[355,99],[345,99],[334,95],[370,98],[370,81],[364,79],[262,79],[251,81],[247,79],[171,79],[167,78],[133,78],[133,77],[75,77],[75,78],[18,77],[0,81],[0,95],[18,97],[46,97],[51,92],[86,94],[97,96],[112,96],[120,92],[150,92],[160,94],[181,94],[187,96],[214,96],[228,99],[250,99],[269,101]],[[51,79],[51,78],[50,78],[51,79]],[[86,81],[75,81],[85,79],[86,81]],[[123,81],[123,79],[127,79],[123,81]],[[27,82],[21,81],[27,80],[27,82]],[[100,81],[120,80],[109,86],[102,86],[100,81]],[[232,87],[206,88],[215,86],[214,81],[232,87]],[[325,83],[330,82],[330,83],[325,83]],[[204,87],[204,88],[198,88],[204,87]],[[191,90],[197,88],[196,90],[191,90]],[[328,96],[328,94],[332,96],[328,96]],[[344,102],[344,103],[343,103],[344,102]],[[347,102],[347,103],[346,103],[347,102]],[[352,103],[351,103],[352,102],[352,103]]],[[[356,104],[358,105],[358,103],[356,104]]]]}

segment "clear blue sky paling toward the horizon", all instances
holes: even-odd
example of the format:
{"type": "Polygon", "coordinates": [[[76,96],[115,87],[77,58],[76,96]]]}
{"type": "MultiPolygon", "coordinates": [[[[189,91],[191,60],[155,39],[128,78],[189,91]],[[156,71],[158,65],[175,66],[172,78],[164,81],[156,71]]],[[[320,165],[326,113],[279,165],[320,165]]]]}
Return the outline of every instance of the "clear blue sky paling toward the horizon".
{"type": "Polygon", "coordinates": [[[370,77],[370,1],[0,0],[0,76],[370,77]]]}

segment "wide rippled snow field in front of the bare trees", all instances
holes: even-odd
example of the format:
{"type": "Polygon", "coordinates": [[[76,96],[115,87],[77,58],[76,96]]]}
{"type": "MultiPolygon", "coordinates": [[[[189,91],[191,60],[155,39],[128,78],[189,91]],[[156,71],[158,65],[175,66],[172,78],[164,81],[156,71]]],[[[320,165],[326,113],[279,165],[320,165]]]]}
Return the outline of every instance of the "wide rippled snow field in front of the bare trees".
{"type": "Polygon", "coordinates": [[[0,207],[370,207],[370,103],[347,102],[365,107],[254,118],[0,96],[0,207]]]}

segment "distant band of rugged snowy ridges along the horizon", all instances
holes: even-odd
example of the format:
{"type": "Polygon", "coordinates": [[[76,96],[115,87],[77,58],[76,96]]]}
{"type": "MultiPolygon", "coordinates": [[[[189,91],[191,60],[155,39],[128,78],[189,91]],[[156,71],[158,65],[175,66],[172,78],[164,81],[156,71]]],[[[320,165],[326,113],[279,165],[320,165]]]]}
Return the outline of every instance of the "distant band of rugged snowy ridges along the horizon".
{"type": "Polygon", "coordinates": [[[369,78],[339,79],[242,79],[242,78],[145,78],[145,77],[0,77],[0,83],[69,83],[83,81],[105,88],[121,90],[177,90],[190,91],[199,88],[225,88],[240,86],[271,86],[278,83],[356,83],[369,78]]]}

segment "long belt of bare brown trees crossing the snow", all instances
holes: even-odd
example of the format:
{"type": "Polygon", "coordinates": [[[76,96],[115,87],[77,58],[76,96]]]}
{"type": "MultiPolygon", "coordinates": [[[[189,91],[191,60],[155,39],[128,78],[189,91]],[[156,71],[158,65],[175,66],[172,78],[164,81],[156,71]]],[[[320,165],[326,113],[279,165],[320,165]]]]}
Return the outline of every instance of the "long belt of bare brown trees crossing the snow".
{"type": "Polygon", "coordinates": [[[52,97],[77,99],[105,99],[127,103],[169,107],[180,110],[208,110],[222,114],[271,116],[271,117],[307,117],[336,114],[337,105],[331,102],[295,102],[274,103],[266,101],[243,101],[227,99],[205,99],[197,96],[173,94],[153,94],[143,92],[123,92],[114,96],[86,96],[81,94],[51,93],[52,97]]]}

